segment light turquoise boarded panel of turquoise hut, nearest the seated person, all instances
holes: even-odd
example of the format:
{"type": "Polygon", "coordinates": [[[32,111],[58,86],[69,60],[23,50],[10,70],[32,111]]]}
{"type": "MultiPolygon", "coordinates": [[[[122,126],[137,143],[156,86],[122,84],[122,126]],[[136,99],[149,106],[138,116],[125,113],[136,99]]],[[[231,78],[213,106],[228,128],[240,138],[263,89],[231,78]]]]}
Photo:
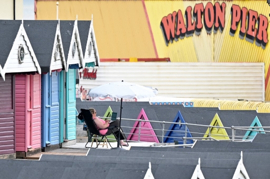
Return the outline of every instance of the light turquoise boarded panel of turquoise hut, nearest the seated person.
{"type": "Polygon", "coordinates": [[[65,136],[67,140],[76,139],[76,71],[68,69],[66,72],[66,115],[65,136]]]}

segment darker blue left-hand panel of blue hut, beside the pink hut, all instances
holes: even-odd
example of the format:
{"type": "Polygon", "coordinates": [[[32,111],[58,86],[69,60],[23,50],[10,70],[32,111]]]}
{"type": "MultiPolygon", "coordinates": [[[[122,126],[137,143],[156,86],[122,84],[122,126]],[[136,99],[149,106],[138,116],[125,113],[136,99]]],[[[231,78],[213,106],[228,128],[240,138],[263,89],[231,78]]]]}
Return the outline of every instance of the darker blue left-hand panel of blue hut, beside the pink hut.
{"type": "Polygon", "coordinates": [[[49,142],[49,75],[42,74],[41,76],[41,147],[46,147],[49,142]]]}

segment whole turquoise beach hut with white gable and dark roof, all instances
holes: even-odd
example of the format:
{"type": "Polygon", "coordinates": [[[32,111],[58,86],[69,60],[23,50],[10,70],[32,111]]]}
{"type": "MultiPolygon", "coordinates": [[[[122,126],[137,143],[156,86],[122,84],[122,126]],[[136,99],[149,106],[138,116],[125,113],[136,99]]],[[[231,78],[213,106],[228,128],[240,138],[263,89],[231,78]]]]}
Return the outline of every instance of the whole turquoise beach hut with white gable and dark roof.
{"type": "Polygon", "coordinates": [[[77,20],[62,20],[59,28],[67,71],[59,74],[60,108],[63,109],[60,112],[60,126],[63,126],[60,130],[63,131],[62,145],[65,146],[76,142],[76,69],[83,68],[83,55],[77,20]]]}

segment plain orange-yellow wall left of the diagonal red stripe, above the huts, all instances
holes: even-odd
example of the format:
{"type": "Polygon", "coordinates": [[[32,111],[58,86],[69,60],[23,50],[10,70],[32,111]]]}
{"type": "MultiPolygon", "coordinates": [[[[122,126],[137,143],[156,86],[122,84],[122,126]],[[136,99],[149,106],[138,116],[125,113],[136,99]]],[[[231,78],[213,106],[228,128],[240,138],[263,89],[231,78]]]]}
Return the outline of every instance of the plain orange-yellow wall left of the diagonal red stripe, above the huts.
{"type": "MultiPolygon", "coordinates": [[[[36,2],[37,20],[56,19],[55,1],[36,2]]],[[[60,20],[91,20],[100,58],[155,58],[141,0],[59,1],[60,20]]]]}

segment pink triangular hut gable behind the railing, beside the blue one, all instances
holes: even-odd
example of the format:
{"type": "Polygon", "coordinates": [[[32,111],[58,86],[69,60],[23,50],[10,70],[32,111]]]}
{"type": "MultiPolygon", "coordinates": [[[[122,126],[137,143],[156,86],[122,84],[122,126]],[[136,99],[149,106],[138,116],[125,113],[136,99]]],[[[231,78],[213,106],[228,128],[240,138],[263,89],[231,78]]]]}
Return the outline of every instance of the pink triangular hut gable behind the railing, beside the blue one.
{"type": "Polygon", "coordinates": [[[137,119],[141,119],[143,121],[141,121],[140,124],[139,121],[134,123],[127,140],[159,143],[150,122],[147,122],[149,120],[143,109],[141,109],[137,119]]]}

